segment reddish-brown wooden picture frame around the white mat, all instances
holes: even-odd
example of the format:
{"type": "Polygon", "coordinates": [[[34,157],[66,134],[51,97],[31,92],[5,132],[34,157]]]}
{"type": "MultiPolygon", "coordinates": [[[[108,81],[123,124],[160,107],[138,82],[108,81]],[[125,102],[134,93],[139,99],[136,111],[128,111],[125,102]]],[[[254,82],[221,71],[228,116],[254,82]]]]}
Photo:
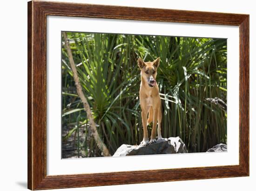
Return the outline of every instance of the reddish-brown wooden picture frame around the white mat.
{"type": "Polygon", "coordinates": [[[249,176],[249,15],[118,7],[62,2],[28,2],[28,188],[57,189],[249,176]],[[47,15],[239,26],[239,165],[47,176],[47,15]],[[147,176],[145,176],[147,175],[147,176]]]}

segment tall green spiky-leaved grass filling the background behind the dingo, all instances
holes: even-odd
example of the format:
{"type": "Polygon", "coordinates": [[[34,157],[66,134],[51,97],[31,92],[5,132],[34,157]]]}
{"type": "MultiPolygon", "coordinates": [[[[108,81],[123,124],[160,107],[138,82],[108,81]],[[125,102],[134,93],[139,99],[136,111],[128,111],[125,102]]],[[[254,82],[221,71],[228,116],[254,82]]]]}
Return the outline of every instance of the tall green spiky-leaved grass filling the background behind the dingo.
{"type": "MultiPolygon", "coordinates": [[[[145,61],[161,58],[157,82],[163,137],[180,136],[189,152],[226,143],[226,113],[205,100],[218,97],[226,102],[226,40],[71,32],[67,36],[98,132],[112,154],[122,144],[139,144],[143,137],[138,57],[145,61]]],[[[90,138],[90,124],[72,75],[63,46],[62,128],[70,128],[63,144],[81,125],[85,127],[81,136],[86,137],[79,144],[83,157],[101,156],[90,138]]]]}

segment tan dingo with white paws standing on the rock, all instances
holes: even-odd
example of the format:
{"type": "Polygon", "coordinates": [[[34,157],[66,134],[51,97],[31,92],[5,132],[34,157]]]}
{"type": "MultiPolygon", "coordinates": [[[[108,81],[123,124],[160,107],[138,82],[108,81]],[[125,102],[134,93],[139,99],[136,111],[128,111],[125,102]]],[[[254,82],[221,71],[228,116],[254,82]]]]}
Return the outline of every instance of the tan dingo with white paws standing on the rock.
{"type": "Polygon", "coordinates": [[[141,69],[141,87],[140,87],[140,105],[141,105],[141,119],[143,125],[143,140],[141,145],[145,146],[156,142],[156,123],[158,123],[158,140],[162,139],[161,135],[161,99],[159,95],[159,87],[155,82],[152,86],[152,81],[155,81],[157,75],[157,68],[160,63],[160,58],[153,62],[144,62],[141,58],[138,59],[138,66],[141,69]],[[150,84],[150,85],[149,85],[150,84]],[[148,118],[148,119],[147,119],[148,118]],[[148,140],[148,124],[153,121],[153,128],[151,132],[150,141],[148,140]]]}

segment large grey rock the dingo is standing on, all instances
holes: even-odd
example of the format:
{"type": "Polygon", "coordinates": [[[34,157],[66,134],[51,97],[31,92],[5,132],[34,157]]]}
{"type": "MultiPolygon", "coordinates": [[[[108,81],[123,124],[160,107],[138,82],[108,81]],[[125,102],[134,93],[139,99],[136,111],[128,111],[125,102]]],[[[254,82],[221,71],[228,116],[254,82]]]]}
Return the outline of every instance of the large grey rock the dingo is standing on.
{"type": "Polygon", "coordinates": [[[154,154],[173,154],[187,153],[186,145],[179,137],[164,138],[154,144],[147,146],[121,145],[113,157],[132,156],[132,155],[154,155],[154,154]]]}

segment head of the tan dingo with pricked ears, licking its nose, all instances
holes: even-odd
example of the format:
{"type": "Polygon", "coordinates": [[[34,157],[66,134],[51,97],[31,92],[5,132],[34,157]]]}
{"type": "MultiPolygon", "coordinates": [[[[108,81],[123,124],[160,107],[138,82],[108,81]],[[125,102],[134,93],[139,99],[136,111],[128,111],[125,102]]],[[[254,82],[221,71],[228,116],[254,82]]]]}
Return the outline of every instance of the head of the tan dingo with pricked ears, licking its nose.
{"type": "Polygon", "coordinates": [[[160,57],[153,62],[144,62],[141,58],[138,59],[138,66],[141,69],[141,78],[148,82],[149,87],[156,85],[157,68],[160,63],[160,57]]]}

